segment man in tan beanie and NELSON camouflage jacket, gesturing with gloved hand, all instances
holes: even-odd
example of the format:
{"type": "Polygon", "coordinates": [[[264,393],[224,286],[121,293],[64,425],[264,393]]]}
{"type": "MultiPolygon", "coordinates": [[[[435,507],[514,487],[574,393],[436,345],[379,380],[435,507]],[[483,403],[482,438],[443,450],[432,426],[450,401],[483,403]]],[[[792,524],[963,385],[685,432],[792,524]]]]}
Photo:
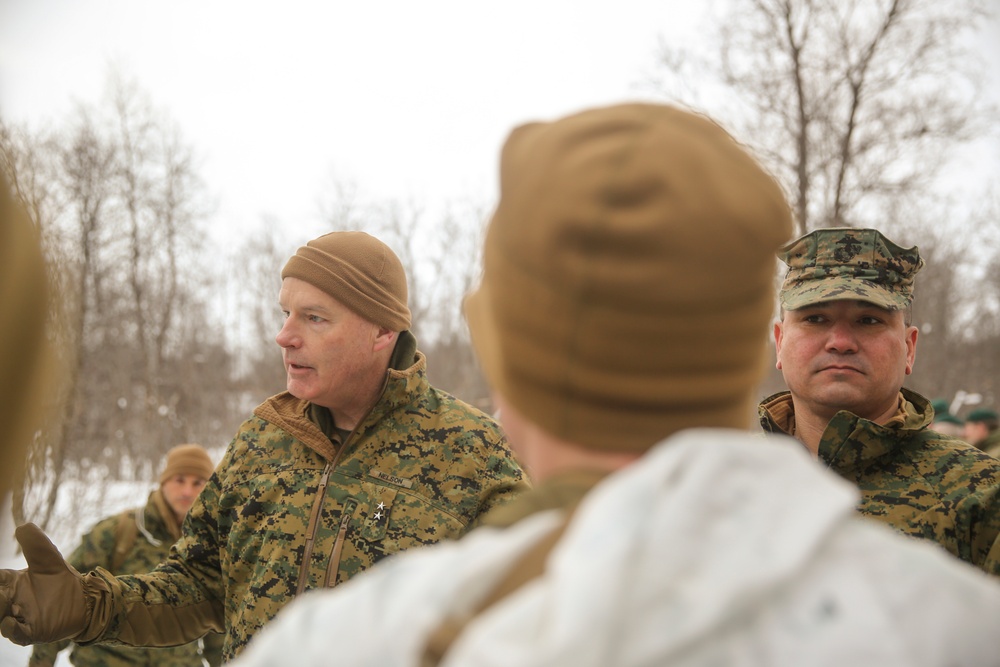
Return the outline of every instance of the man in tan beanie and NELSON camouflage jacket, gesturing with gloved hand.
{"type": "Polygon", "coordinates": [[[525,488],[499,426],[427,382],[388,246],[362,232],[310,241],[279,303],[288,391],[240,428],[171,557],[81,578],[21,526],[29,567],[0,571],[4,636],[168,646],[216,629],[228,660],[299,593],[459,537],[525,488]]]}

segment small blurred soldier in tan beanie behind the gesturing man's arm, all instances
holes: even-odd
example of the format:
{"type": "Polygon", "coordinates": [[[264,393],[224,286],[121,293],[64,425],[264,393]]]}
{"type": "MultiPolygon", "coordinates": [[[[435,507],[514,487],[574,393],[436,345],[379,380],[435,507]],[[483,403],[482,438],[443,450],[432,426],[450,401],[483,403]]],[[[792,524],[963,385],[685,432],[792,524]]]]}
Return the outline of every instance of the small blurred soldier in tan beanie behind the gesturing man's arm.
{"type": "MultiPolygon", "coordinates": [[[[212,459],[201,445],[177,445],[167,452],[159,487],[149,494],[145,507],[126,510],[103,519],[82,538],[67,561],[78,571],[103,567],[112,574],[149,572],[170,554],[181,535],[181,524],[205,482],[212,476],[212,459]]],[[[203,638],[204,658],[211,667],[222,664],[222,635],[203,638]]],[[[39,644],[28,667],[52,667],[59,651],[72,642],[39,644]]],[[[75,646],[70,662],[76,667],[202,667],[199,642],[169,648],[129,646],[75,646]]]]}

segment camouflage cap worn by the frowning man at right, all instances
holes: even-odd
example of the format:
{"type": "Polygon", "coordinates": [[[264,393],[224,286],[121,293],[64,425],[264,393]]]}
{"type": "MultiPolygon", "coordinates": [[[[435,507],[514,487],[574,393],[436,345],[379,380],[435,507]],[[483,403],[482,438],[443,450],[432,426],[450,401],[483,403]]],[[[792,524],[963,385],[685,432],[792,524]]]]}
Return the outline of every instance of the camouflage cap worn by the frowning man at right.
{"type": "Polygon", "coordinates": [[[901,248],[877,229],[817,229],[778,251],[788,265],[779,297],[785,310],[826,301],[867,301],[904,310],[924,265],[916,246],[901,248]]]}

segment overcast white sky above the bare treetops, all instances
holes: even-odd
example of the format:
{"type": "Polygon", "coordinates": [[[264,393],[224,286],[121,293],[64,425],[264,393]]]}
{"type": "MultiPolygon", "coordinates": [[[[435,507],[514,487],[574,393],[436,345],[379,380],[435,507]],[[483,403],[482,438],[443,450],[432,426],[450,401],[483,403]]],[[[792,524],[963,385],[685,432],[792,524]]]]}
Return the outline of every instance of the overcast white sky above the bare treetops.
{"type": "Polygon", "coordinates": [[[218,220],[372,197],[490,204],[507,132],[638,99],[657,38],[711,2],[0,0],[0,116],[57,122],[118,63],[202,157],[218,220]]]}

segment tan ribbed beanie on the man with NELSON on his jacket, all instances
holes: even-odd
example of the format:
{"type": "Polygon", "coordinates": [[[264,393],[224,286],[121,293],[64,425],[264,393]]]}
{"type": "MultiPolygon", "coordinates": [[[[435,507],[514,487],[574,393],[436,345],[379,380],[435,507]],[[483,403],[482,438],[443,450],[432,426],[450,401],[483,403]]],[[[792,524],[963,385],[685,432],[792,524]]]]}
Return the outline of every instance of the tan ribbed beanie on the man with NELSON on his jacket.
{"type": "Polygon", "coordinates": [[[304,280],[380,327],[410,328],[403,264],[364,232],[331,232],[309,241],[288,260],[281,278],[304,280]]]}

